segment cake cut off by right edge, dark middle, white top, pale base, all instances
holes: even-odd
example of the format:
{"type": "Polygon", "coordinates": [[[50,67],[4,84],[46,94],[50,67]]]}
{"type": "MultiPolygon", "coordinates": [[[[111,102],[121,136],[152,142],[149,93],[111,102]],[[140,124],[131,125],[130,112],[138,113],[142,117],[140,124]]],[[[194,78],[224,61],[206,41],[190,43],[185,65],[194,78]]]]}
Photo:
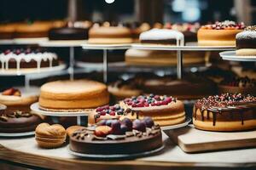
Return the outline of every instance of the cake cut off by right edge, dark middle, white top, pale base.
{"type": "Polygon", "coordinates": [[[256,55],[256,26],[247,26],[236,34],[236,55],[256,55]]]}

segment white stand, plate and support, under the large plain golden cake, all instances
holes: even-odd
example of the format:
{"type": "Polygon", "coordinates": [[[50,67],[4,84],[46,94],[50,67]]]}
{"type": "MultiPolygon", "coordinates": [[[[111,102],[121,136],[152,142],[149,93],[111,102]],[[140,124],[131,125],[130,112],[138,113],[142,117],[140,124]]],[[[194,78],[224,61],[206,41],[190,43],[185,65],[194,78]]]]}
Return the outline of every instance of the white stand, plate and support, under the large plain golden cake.
{"type": "Polygon", "coordinates": [[[57,117],[64,116],[64,117],[71,117],[76,116],[77,117],[77,124],[81,125],[82,121],[84,121],[84,126],[87,126],[88,123],[88,114],[92,110],[88,111],[44,111],[39,108],[39,103],[34,103],[30,106],[30,109],[37,114],[44,115],[44,116],[51,116],[53,121],[57,123],[57,117]],[[82,118],[84,118],[82,120],[82,118]]]}

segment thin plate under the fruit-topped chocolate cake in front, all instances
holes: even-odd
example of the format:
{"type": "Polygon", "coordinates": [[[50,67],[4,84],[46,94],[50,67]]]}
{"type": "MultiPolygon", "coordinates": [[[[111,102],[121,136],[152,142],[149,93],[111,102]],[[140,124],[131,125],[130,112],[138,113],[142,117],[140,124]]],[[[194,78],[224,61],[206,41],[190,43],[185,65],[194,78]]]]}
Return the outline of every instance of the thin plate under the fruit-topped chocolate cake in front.
{"type": "Polygon", "coordinates": [[[88,159],[95,159],[95,160],[113,160],[113,159],[134,159],[137,157],[144,157],[144,156],[151,156],[154,155],[161,150],[165,148],[165,145],[163,144],[160,148],[156,150],[150,150],[150,151],[145,151],[141,153],[136,153],[136,154],[117,154],[117,155],[93,155],[93,154],[83,154],[79,152],[74,152],[73,150],[70,150],[69,145],[67,146],[69,153],[71,153],[74,156],[79,156],[83,158],[88,158],[88,159]]]}

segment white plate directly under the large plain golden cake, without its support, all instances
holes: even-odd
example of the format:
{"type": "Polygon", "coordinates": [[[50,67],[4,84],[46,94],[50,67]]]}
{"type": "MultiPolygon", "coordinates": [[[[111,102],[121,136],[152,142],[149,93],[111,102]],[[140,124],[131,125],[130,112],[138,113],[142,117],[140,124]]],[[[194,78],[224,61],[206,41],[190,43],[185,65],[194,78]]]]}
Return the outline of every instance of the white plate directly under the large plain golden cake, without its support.
{"type": "Polygon", "coordinates": [[[88,116],[92,110],[88,111],[44,111],[40,109],[39,103],[34,103],[30,106],[30,109],[35,113],[44,116],[88,116]]]}

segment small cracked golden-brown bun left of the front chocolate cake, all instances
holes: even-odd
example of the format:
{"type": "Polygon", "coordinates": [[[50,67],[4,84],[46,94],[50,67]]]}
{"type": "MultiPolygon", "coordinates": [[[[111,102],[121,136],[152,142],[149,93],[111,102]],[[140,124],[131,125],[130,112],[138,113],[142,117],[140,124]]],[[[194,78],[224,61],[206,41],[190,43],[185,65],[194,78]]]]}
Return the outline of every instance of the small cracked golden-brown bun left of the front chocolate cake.
{"type": "Polygon", "coordinates": [[[66,141],[66,130],[59,124],[41,123],[36,128],[35,138],[41,148],[57,148],[66,141]]]}

